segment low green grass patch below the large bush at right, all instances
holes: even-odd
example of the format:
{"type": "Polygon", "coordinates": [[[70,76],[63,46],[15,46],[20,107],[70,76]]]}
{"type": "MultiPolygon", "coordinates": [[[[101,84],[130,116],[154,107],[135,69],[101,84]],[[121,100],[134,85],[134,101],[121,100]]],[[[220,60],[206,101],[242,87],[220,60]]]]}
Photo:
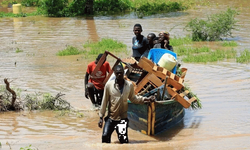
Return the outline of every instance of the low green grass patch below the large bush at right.
{"type": "Polygon", "coordinates": [[[201,47],[197,47],[196,44],[199,42],[190,41],[190,37],[170,39],[170,43],[175,45],[174,51],[183,62],[207,63],[223,61],[225,59],[234,59],[238,63],[250,62],[249,50],[245,49],[239,56],[237,55],[237,51],[233,48],[238,45],[235,41],[217,42],[217,46],[219,47],[217,49],[212,49],[209,45],[206,46],[204,44],[201,47]]]}

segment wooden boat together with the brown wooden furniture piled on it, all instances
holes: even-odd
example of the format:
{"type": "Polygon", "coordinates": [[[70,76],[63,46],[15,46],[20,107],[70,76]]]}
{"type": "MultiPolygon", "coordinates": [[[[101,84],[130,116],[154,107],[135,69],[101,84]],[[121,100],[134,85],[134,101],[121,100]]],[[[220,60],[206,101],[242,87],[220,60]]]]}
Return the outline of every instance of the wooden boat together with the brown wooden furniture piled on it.
{"type": "MultiPolygon", "coordinates": [[[[106,60],[108,55],[117,60],[112,68],[119,63],[126,64],[128,67],[126,79],[134,84],[135,94],[149,96],[155,94],[155,90],[159,90],[161,86],[164,87],[163,94],[157,93],[158,96],[160,95],[157,97],[158,101],[139,105],[133,104],[128,100],[128,119],[130,120],[130,128],[139,130],[147,135],[163,132],[180,122],[185,114],[184,108],[190,107],[191,103],[196,101],[195,97],[188,97],[188,99],[184,98],[184,96],[187,96],[189,93],[188,90],[184,90],[183,85],[186,70],[179,77],[155,65],[147,58],[141,58],[140,61],[135,64],[136,67],[139,67],[136,68],[132,67],[133,64],[128,64],[106,51],[99,60],[92,75],[95,75],[97,69],[106,60]],[[170,100],[165,100],[165,91],[167,91],[168,95],[171,97],[170,100]]],[[[112,73],[113,69],[108,74],[103,84],[108,81],[112,73]]]]}

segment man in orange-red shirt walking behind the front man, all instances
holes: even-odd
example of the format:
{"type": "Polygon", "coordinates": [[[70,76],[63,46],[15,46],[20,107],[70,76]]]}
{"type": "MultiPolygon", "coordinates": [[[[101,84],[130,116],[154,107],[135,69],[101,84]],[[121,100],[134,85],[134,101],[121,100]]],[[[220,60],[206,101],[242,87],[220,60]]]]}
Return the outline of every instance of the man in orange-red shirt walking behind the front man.
{"type": "Polygon", "coordinates": [[[85,97],[90,98],[94,107],[100,107],[102,103],[104,85],[102,84],[106,78],[107,73],[111,71],[110,65],[107,61],[104,61],[100,69],[95,76],[91,76],[98,61],[103,54],[99,54],[95,61],[88,64],[85,75],[85,97]]]}

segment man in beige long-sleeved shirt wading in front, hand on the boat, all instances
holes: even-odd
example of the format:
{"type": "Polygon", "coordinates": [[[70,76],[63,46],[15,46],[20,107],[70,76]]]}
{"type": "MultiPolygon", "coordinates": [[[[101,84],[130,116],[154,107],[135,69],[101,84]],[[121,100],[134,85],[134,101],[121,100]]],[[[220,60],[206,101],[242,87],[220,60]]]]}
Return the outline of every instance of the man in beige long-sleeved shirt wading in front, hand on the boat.
{"type": "Polygon", "coordinates": [[[104,88],[104,95],[99,112],[100,120],[98,126],[102,128],[103,117],[105,116],[108,104],[108,115],[105,117],[105,125],[102,134],[102,143],[110,143],[111,135],[116,130],[121,143],[128,143],[128,102],[144,104],[154,101],[155,97],[149,98],[136,96],[134,86],[130,81],[124,80],[124,69],[117,65],[114,68],[116,79],[109,81],[104,88]]]}

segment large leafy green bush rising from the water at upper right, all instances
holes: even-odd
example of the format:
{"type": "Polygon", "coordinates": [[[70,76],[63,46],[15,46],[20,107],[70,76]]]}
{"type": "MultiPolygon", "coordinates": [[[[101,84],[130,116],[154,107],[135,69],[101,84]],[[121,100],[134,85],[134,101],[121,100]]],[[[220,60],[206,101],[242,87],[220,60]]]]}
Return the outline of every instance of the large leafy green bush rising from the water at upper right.
{"type": "Polygon", "coordinates": [[[238,15],[237,10],[228,8],[224,12],[213,14],[207,20],[192,19],[186,29],[192,32],[193,41],[215,41],[222,37],[232,36],[237,21],[234,19],[238,15]]]}

